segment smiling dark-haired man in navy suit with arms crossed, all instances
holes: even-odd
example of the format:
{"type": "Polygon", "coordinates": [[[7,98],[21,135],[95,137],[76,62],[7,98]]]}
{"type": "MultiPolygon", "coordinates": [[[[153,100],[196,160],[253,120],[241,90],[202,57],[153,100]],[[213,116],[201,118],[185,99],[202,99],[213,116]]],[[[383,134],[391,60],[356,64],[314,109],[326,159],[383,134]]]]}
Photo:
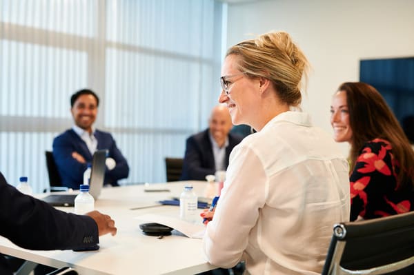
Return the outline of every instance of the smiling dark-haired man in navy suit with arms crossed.
{"type": "Polygon", "coordinates": [[[119,179],[128,177],[129,167],[115,140],[108,132],[96,130],[99,98],[91,90],[80,90],[70,98],[70,112],[75,125],[53,141],[53,157],[62,179],[62,185],[79,189],[83,172],[92,162],[96,150],[108,150],[105,184],[118,185],[119,179]]]}

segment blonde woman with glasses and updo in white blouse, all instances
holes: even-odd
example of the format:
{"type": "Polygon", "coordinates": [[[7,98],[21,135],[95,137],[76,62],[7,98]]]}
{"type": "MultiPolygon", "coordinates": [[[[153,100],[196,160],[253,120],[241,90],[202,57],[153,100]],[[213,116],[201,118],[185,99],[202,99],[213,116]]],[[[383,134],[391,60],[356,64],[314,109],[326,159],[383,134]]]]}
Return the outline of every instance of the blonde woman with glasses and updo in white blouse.
{"type": "MultiPolygon", "coordinates": [[[[206,228],[208,261],[250,274],[320,274],[334,223],[348,221],[348,163],[330,134],[300,110],[308,61],[286,32],[231,47],[221,69],[233,124],[247,136],[206,228]]],[[[202,214],[208,220],[212,212],[202,214]]]]}

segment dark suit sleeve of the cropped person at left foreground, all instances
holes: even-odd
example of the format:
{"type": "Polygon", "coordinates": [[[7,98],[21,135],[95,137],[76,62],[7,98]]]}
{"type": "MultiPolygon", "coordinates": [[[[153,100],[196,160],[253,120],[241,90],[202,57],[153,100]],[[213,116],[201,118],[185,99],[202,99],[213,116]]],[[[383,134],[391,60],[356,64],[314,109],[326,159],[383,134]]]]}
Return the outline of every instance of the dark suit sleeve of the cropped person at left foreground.
{"type": "Polygon", "coordinates": [[[1,173],[0,235],[27,249],[82,249],[99,243],[92,218],[56,210],[21,194],[1,173]]]}

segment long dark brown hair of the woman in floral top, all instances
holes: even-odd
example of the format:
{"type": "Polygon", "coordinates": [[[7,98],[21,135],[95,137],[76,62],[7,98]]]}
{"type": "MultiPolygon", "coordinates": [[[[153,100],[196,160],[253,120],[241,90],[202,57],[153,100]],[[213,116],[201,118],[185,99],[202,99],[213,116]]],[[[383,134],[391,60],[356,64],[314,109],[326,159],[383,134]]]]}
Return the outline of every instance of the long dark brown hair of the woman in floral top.
{"type": "Polygon", "coordinates": [[[373,86],[362,82],[346,82],[338,91],[346,92],[351,139],[351,168],[355,167],[357,157],[364,144],[373,139],[384,139],[391,143],[393,156],[400,165],[397,172],[397,189],[414,185],[414,151],[400,123],[373,86]]]}

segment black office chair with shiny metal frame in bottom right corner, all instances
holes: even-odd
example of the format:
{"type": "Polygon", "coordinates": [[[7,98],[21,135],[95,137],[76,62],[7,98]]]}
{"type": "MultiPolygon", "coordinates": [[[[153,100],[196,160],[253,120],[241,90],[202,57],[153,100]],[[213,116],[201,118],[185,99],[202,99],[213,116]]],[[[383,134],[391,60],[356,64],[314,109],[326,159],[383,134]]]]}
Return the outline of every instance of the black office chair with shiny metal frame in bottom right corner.
{"type": "Polygon", "coordinates": [[[414,212],[333,227],[322,275],[414,274],[414,212]]]}

